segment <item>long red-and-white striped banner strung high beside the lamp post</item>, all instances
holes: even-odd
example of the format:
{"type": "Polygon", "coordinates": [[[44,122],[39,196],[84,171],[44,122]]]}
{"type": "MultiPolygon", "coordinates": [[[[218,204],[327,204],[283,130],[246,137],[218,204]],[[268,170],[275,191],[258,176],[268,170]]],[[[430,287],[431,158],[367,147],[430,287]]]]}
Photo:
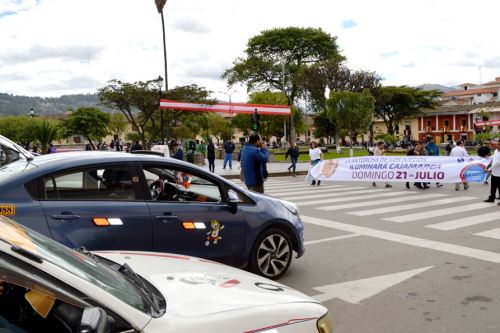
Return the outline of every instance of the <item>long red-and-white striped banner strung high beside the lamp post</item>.
{"type": "Polygon", "coordinates": [[[214,105],[201,103],[188,103],[172,101],[168,99],[160,100],[160,108],[169,110],[194,111],[194,112],[219,112],[219,113],[247,113],[251,114],[257,110],[259,114],[288,116],[290,107],[286,105],[268,104],[245,104],[245,103],[218,103],[214,105]]]}

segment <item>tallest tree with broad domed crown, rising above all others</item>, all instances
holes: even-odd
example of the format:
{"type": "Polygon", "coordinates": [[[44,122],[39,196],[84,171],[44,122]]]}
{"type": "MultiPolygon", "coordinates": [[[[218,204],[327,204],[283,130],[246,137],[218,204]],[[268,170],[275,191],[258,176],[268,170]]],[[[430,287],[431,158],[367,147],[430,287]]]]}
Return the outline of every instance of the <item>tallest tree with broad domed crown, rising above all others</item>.
{"type": "MultiPolygon", "coordinates": [[[[298,96],[298,75],[304,64],[339,57],[336,37],[314,28],[276,28],[252,37],[246,56],[237,58],[222,77],[228,85],[247,85],[249,91],[271,90],[287,93],[288,105],[298,96]],[[284,68],[282,68],[284,67],[284,68]]],[[[291,124],[295,141],[295,124],[291,124]]]]}

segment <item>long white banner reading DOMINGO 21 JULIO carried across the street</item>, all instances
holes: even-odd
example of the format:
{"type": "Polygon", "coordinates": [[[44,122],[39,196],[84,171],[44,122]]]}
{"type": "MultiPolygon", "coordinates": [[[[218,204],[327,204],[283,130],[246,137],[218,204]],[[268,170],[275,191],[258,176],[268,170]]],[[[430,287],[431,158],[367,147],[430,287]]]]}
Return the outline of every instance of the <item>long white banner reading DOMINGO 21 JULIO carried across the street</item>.
{"type": "Polygon", "coordinates": [[[480,183],[488,163],[472,156],[365,156],[321,161],[309,172],[319,180],[480,183]]]}

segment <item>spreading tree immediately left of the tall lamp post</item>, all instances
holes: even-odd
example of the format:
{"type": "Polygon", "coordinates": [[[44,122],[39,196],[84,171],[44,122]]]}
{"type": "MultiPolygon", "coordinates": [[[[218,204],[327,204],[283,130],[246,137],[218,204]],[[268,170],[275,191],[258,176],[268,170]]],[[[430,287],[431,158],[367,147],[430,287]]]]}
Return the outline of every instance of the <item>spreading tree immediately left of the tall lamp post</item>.
{"type": "MultiPolygon", "coordinates": [[[[135,83],[111,80],[106,87],[98,89],[98,96],[104,106],[123,113],[145,145],[146,126],[158,111],[159,91],[157,80],[135,83]]],[[[153,128],[156,128],[154,123],[153,128]]]]}

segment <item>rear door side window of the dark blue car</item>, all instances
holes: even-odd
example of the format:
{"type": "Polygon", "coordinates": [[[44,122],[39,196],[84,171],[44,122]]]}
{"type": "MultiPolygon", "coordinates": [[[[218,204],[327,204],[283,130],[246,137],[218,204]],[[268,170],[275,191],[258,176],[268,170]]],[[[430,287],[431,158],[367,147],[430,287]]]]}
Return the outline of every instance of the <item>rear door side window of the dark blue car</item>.
{"type": "Polygon", "coordinates": [[[45,200],[134,200],[127,167],[78,170],[44,179],[45,200]]]}

